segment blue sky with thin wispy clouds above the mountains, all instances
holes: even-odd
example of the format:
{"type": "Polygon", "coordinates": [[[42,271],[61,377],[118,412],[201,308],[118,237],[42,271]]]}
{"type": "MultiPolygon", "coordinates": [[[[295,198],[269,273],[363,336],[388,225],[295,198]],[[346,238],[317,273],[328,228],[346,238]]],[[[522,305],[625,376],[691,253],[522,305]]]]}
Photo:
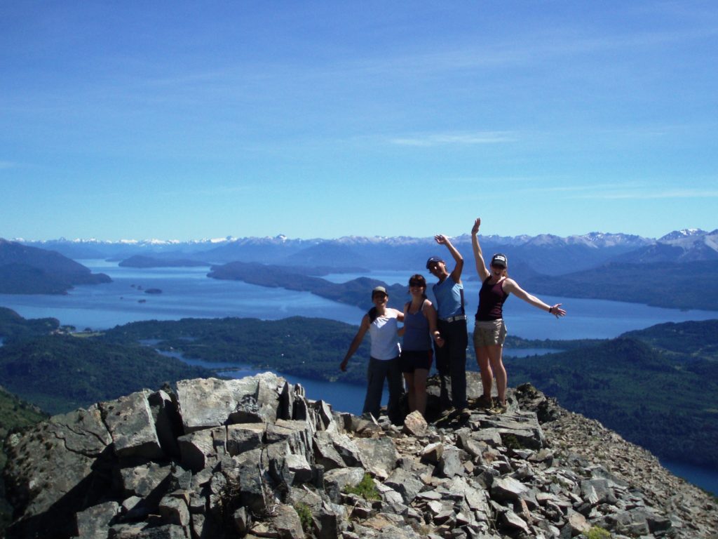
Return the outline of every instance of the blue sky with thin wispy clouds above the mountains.
{"type": "Polygon", "coordinates": [[[0,237],[718,228],[715,1],[5,1],[0,237]]]}

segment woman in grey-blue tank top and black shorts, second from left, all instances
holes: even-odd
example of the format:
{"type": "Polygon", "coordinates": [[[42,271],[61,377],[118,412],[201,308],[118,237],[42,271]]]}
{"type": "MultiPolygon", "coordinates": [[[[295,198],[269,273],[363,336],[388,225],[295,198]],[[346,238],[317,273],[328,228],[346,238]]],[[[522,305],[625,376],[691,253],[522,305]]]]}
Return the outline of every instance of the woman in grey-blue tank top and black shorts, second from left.
{"type": "Polygon", "coordinates": [[[437,346],[444,339],[437,329],[437,310],[426,299],[426,280],[423,275],[409,277],[411,301],[404,305],[404,346],[399,364],[406,380],[409,412],[426,413],[426,378],[432,367],[432,337],[437,346]]]}

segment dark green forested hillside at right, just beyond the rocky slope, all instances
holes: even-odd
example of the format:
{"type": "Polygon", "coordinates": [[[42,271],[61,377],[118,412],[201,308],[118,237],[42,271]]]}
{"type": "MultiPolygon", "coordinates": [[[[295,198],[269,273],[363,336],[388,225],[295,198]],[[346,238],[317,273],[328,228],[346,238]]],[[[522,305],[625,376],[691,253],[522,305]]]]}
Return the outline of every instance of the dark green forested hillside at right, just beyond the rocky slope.
{"type": "Polygon", "coordinates": [[[621,337],[505,364],[511,385],[531,382],[658,456],[718,467],[718,361],[621,337]]]}

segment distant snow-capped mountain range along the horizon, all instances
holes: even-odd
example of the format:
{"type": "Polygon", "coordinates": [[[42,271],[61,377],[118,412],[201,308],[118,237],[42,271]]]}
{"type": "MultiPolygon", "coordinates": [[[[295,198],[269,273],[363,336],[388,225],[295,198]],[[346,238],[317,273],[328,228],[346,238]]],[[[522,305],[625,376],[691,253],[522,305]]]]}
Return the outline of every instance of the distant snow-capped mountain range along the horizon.
{"type": "MultiPolygon", "coordinates": [[[[660,239],[635,234],[591,232],[574,236],[480,236],[485,254],[503,252],[513,272],[552,275],[587,270],[613,261],[622,263],[691,262],[718,259],[718,230],[672,231],[660,239]]],[[[290,239],[285,235],[267,237],[198,239],[191,241],[126,239],[15,240],[42,249],[51,249],[72,259],[123,260],[141,254],[161,259],[192,259],[208,264],[258,262],[313,267],[353,267],[366,270],[404,270],[424,267],[434,254],[447,256],[433,238],[410,236],[345,236],[338,239],[290,239]]],[[[464,257],[472,257],[469,234],[452,242],[464,257]]]]}

